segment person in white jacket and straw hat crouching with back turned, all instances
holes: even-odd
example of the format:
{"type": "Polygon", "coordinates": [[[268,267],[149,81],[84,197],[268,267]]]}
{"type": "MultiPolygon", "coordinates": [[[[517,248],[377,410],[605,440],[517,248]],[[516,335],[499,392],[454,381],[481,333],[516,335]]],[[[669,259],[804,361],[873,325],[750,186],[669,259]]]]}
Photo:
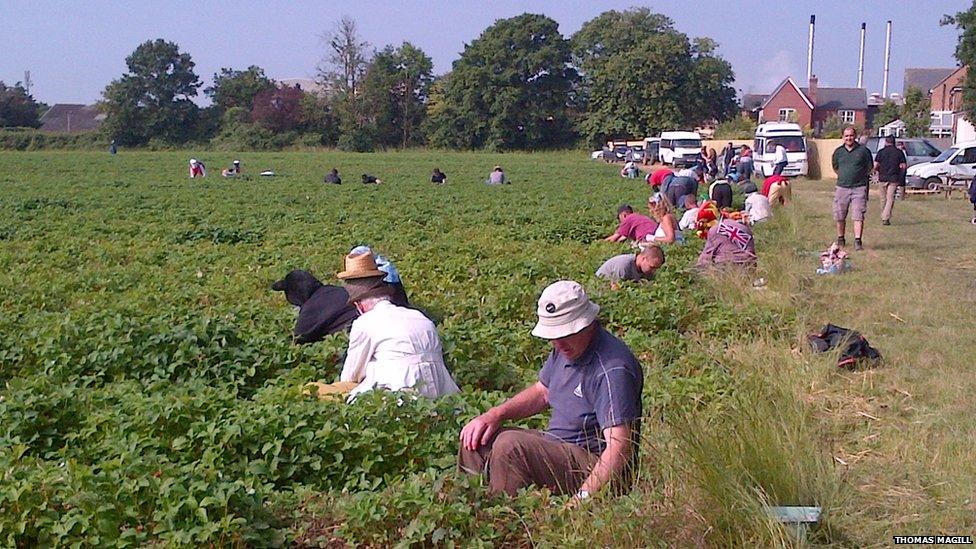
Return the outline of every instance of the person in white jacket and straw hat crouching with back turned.
{"type": "Polygon", "coordinates": [[[357,384],[349,400],[375,388],[409,389],[429,398],[459,392],[444,365],[437,328],[420,311],[390,301],[393,290],[373,254],[349,254],[344,266],[336,276],[359,311],[339,375],[340,383],[357,384]]]}

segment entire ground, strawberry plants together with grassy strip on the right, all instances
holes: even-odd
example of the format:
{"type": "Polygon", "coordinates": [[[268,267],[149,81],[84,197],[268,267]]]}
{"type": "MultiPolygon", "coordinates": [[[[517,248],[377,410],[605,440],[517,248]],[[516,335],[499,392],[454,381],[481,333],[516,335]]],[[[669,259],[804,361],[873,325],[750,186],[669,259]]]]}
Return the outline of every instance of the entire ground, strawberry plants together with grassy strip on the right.
{"type": "MultiPolygon", "coordinates": [[[[646,185],[582,152],[0,153],[0,540],[7,545],[881,545],[973,530],[974,229],[961,200],[899,203],[855,271],[813,275],[829,182],[757,228],[760,276],[708,280],[700,244],[650,285],[594,278],[646,185]],[[190,180],[193,156],[210,176],[190,180]],[[248,177],[221,179],[239,158],[248,177]],[[484,184],[502,165],[512,185],[484,184]],[[343,185],[325,185],[336,167],[343,185]],[[448,184],[430,183],[439,167],[448,184]],[[276,177],[258,177],[273,170],[276,177]],[[364,186],[362,173],[384,180],[364,186]],[[883,230],[882,230],[883,229],[883,230]],[[462,386],[436,403],[301,395],[345,336],[297,347],[270,284],[334,282],[368,243],[438,321],[462,386]],[[531,382],[529,334],[583,283],[645,370],[634,491],[576,512],[489,498],[459,426],[531,382]],[[859,329],[883,366],[837,372],[803,337],[859,329]],[[806,541],[763,505],[820,505],[806,541]]],[[[871,215],[876,217],[871,204],[871,215]]],[[[529,422],[542,425],[544,418],[529,422]]]]}

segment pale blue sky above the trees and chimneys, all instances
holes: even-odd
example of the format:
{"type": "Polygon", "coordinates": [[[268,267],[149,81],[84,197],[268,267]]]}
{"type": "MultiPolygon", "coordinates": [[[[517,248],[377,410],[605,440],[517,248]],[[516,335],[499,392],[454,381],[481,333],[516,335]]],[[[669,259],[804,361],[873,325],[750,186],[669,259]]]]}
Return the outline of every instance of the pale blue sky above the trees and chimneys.
{"type": "Polygon", "coordinates": [[[125,57],[151,38],[175,41],[209,83],[221,67],[255,64],[273,78],[310,77],[324,54],[320,35],[342,15],[357,20],[377,49],[406,40],[450,70],[464,44],[496,19],[543,13],[569,36],[609,9],[646,6],[689,35],[709,36],[732,63],[740,92],[768,92],[786,75],[806,77],[807,25],[817,15],[814,72],[821,86],[857,82],[861,22],[867,23],[865,85],[881,91],[884,27],[893,22],[889,93],[906,67],[951,67],[957,32],[939,26],[966,0],[695,0],[669,2],[375,1],[256,2],[0,0],[0,80],[31,71],[34,96],[47,103],[89,103],[125,71],[125,57]]]}

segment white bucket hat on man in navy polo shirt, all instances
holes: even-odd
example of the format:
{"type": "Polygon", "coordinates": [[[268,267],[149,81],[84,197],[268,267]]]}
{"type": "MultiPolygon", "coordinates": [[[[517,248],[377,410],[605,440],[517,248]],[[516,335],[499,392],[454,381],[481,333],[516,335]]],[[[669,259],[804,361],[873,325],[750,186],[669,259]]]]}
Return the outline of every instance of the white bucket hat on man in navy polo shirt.
{"type": "Polygon", "coordinates": [[[580,332],[596,320],[600,306],[590,301],[579,282],[553,282],[539,296],[539,322],[532,335],[560,339],[580,332]]]}

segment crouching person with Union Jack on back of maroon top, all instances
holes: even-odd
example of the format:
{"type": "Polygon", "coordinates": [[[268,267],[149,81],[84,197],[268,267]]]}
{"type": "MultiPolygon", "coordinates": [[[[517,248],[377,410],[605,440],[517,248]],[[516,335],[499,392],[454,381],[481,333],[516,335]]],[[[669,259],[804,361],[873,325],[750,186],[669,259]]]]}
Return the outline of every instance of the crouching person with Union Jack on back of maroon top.
{"type": "Polygon", "coordinates": [[[699,269],[718,267],[756,267],[756,241],[752,230],[743,223],[722,215],[714,201],[698,209],[698,236],[705,248],[698,256],[699,269]]]}

